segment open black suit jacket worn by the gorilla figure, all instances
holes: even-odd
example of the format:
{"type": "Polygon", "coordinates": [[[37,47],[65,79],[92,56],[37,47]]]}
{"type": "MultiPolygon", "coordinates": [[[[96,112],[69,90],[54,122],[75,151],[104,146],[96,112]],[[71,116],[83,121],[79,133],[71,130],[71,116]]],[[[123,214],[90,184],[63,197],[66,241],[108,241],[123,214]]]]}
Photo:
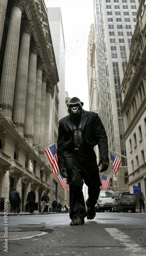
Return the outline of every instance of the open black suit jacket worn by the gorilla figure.
{"type": "MultiPolygon", "coordinates": [[[[72,121],[67,115],[59,121],[57,156],[59,169],[65,168],[65,150],[71,150],[72,145],[72,121]]],[[[107,135],[98,113],[83,110],[82,134],[86,147],[99,146],[100,157],[108,157],[107,135]]]]}

